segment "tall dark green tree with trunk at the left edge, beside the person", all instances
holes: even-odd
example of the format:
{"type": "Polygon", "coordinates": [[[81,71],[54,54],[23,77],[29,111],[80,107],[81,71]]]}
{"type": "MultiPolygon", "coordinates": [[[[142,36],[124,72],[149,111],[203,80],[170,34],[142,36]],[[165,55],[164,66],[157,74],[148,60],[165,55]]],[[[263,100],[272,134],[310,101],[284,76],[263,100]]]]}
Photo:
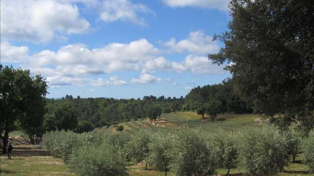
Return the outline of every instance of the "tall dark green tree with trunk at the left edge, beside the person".
{"type": "Polygon", "coordinates": [[[17,120],[27,123],[21,127],[29,135],[38,132],[34,129],[41,126],[37,122],[41,122],[42,119],[41,103],[47,93],[47,84],[40,75],[32,77],[29,70],[1,65],[0,80],[0,137],[3,141],[2,154],[5,154],[8,133],[14,129],[17,120]],[[36,123],[32,123],[33,121],[36,123]]]}

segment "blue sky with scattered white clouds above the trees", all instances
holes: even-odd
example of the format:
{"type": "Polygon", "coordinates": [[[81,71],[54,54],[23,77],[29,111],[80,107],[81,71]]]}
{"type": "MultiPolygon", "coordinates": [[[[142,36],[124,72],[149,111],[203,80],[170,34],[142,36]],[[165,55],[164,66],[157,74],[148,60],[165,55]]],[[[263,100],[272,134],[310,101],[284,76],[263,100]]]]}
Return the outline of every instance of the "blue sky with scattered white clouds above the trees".
{"type": "Polygon", "coordinates": [[[231,74],[208,54],[228,0],[1,0],[0,63],[48,81],[48,98],[185,96],[231,74]]]}

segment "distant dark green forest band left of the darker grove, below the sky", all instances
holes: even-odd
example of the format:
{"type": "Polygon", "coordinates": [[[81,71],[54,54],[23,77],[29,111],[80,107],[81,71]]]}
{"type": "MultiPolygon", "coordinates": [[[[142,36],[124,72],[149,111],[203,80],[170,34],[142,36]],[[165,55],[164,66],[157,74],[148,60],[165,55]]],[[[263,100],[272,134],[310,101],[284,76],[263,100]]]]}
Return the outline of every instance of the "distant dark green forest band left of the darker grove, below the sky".
{"type": "MultiPolygon", "coordinates": [[[[153,95],[143,99],[73,98],[47,99],[43,127],[45,131],[56,129],[88,132],[96,127],[110,126],[140,118],[159,116],[161,112],[181,110],[180,98],[153,95]],[[155,115],[154,113],[157,112],[155,115]]],[[[151,119],[151,118],[150,118],[151,119]]]]}

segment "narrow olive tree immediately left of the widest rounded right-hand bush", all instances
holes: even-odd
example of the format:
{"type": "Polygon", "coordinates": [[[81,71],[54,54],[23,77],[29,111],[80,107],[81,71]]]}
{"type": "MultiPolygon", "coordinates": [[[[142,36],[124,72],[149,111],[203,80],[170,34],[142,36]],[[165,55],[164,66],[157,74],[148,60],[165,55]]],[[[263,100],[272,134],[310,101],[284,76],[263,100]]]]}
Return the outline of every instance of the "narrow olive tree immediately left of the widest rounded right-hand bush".
{"type": "Polygon", "coordinates": [[[216,147],[217,162],[220,167],[227,168],[229,175],[230,168],[234,168],[237,164],[237,148],[236,138],[234,135],[219,130],[213,133],[209,139],[209,145],[216,147]]]}

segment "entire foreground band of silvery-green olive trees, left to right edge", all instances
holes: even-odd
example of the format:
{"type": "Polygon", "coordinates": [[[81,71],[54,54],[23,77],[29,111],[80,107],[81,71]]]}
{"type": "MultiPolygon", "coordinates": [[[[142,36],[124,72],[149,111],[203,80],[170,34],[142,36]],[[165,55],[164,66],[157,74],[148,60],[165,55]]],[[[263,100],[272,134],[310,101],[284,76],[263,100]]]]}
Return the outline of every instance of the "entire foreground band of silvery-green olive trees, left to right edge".
{"type": "Polygon", "coordinates": [[[183,129],[178,132],[141,130],[91,135],[70,131],[48,132],[42,147],[62,157],[79,176],[127,176],[127,166],[145,162],[176,176],[212,176],[218,168],[241,168],[252,176],[270,176],[284,170],[296,155],[314,173],[314,132],[302,137],[290,128],[247,127],[237,132],[183,129]]]}

